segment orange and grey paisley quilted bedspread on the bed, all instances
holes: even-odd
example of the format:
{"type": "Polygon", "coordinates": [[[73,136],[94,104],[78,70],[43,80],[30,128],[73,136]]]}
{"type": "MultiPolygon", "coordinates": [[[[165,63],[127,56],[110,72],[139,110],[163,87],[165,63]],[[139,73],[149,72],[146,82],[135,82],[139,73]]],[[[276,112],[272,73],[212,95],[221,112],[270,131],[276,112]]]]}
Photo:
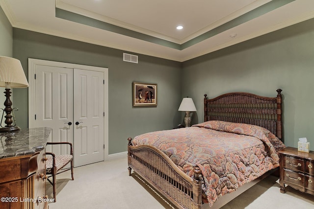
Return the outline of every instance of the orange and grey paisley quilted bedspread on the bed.
{"type": "Polygon", "coordinates": [[[235,191],[279,166],[277,151],[285,145],[260,126],[211,120],[189,128],[142,134],[133,145],[162,150],[188,176],[198,165],[203,174],[203,201],[235,191]]]}

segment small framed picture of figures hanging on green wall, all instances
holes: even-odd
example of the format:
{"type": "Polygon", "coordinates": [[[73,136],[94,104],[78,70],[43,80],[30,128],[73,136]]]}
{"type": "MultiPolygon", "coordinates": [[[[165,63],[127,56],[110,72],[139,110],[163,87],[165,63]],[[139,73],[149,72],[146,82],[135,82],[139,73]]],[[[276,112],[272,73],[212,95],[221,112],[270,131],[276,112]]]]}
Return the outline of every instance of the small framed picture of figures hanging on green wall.
{"type": "Polygon", "coordinates": [[[133,106],[157,106],[157,84],[133,82],[133,106]]]}

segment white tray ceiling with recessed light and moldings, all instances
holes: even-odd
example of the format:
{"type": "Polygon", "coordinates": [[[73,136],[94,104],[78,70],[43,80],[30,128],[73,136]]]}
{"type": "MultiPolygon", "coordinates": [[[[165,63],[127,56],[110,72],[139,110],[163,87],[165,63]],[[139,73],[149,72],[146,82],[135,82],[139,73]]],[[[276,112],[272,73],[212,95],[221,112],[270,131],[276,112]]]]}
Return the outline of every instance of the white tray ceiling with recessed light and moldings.
{"type": "Polygon", "coordinates": [[[13,27],[183,62],[314,17],[314,0],[289,1],[0,0],[0,6],[13,27]],[[281,2],[278,8],[254,13],[281,2]],[[118,32],[58,18],[56,8],[113,24],[118,32]],[[230,26],[244,16],[248,20],[230,26]],[[225,29],[217,32],[219,26],[225,29]],[[137,35],[120,34],[121,28],[137,35]],[[142,40],[143,34],[154,41],[142,40]]]}

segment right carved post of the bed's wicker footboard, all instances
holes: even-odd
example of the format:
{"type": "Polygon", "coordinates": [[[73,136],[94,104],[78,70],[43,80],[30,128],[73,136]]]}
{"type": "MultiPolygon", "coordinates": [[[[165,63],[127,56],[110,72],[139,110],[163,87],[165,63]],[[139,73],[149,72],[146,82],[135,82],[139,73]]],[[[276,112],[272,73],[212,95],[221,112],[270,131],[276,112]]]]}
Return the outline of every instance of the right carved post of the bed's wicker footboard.
{"type": "Polygon", "coordinates": [[[202,182],[201,182],[201,169],[195,166],[193,169],[193,209],[202,208],[202,182]]]}

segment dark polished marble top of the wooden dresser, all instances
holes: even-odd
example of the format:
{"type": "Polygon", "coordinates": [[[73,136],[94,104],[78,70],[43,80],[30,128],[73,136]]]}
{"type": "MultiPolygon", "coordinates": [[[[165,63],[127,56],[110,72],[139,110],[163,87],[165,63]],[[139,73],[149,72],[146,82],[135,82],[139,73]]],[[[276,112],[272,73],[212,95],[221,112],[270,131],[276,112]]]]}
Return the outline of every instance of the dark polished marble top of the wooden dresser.
{"type": "Polygon", "coordinates": [[[29,128],[18,132],[0,133],[0,159],[34,154],[43,150],[52,128],[29,128]]]}

